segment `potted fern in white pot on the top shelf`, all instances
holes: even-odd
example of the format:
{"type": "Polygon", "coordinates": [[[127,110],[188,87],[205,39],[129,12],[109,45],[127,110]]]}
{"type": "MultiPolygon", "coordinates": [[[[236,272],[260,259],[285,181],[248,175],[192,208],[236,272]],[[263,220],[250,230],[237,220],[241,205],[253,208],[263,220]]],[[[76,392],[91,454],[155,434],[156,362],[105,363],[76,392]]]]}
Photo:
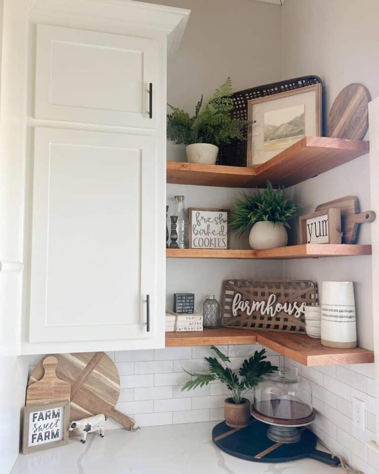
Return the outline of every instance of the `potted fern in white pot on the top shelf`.
{"type": "Polygon", "coordinates": [[[247,120],[231,117],[233,110],[231,79],[216,89],[203,105],[203,96],[197,102],[195,115],[167,104],[172,110],[167,115],[167,138],[186,145],[190,163],[215,164],[219,146],[231,140],[246,140],[247,120]]]}

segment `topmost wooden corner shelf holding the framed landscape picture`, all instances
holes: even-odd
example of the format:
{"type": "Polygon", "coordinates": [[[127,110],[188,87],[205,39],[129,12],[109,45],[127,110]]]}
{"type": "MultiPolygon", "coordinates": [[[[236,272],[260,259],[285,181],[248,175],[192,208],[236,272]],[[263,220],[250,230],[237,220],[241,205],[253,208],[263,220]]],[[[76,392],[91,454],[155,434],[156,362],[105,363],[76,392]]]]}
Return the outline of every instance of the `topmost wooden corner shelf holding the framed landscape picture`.
{"type": "Polygon", "coordinates": [[[306,136],[257,166],[222,166],[167,161],[167,183],[226,188],[274,186],[288,188],[365,155],[369,142],[306,136]]]}

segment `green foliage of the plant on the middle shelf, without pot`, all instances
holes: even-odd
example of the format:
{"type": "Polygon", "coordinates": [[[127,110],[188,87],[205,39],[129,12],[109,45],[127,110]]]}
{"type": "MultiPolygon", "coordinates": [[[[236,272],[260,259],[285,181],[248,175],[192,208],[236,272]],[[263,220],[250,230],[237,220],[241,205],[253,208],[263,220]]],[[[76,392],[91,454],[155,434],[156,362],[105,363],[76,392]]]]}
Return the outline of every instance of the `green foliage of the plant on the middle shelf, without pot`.
{"type": "Polygon", "coordinates": [[[285,197],[284,188],[273,189],[267,181],[267,189],[257,190],[253,196],[242,193],[243,198],[237,201],[229,218],[231,228],[241,236],[244,231],[256,222],[271,221],[290,227],[290,221],[299,211],[300,206],[285,197]]]}

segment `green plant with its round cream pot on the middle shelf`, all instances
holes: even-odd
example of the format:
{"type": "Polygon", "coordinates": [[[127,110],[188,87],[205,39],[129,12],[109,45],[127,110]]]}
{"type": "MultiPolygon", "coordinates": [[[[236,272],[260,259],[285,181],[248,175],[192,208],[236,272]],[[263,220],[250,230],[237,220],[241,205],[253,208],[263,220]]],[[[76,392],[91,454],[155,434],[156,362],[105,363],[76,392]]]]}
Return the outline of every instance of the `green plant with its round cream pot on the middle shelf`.
{"type": "Polygon", "coordinates": [[[241,236],[251,228],[249,243],[253,249],[284,247],[288,242],[286,227],[297,214],[299,206],[287,199],[284,189],[267,189],[253,196],[243,193],[243,198],[233,206],[229,224],[241,236]]]}

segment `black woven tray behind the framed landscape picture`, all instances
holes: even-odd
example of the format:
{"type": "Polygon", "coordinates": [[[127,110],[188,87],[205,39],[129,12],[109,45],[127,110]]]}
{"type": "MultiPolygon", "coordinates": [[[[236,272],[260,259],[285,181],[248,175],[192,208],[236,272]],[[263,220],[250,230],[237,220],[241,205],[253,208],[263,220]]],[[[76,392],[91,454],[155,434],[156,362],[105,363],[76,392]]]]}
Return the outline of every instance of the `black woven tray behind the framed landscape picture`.
{"type": "MultiPolygon", "coordinates": [[[[279,94],[287,90],[302,89],[308,85],[321,84],[318,76],[305,76],[289,80],[281,80],[272,84],[260,85],[251,89],[240,90],[233,93],[234,109],[232,116],[241,120],[247,120],[247,102],[268,95],[279,94]]],[[[227,166],[246,166],[247,143],[246,141],[234,140],[233,142],[219,147],[217,164],[227,166]]]]}

